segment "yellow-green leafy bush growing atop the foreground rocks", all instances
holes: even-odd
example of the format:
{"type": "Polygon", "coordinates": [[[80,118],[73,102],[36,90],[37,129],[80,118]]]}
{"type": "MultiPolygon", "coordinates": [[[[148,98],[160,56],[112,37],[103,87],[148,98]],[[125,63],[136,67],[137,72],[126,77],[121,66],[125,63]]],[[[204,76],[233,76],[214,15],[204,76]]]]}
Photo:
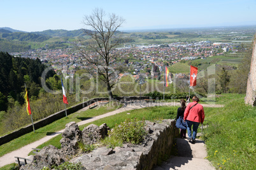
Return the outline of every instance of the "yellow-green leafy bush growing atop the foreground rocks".
{"type": "Polygon", "coordinates": [[[121,124],[115,124],[109,135],[111,138],[121,139],[124,142],[138,144],[143,141],[146,131],[144,129],[145,121],[138,119],[125,119],[121,124]]]}

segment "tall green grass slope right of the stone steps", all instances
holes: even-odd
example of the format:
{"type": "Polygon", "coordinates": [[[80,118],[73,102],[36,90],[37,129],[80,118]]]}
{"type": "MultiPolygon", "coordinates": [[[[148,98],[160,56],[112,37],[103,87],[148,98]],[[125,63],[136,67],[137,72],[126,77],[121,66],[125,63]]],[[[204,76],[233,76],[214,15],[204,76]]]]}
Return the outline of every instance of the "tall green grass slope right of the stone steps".
{"type": "Polygon", "coordinates": [[[245,105],[244,95],[231,96],[222,96],[224,108],[208,113],[211,124],[203,136],[208,159],[217,169],[256,169],[256,108],[245,105]]]}

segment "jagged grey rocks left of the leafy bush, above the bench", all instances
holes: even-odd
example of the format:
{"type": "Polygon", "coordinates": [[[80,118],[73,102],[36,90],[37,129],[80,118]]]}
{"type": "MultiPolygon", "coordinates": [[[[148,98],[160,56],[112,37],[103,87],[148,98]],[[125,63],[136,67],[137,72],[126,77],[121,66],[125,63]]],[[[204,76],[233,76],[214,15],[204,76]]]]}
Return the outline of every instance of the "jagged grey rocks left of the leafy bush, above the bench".
{"type": "Polygon", "coordinates": [[[74,157],[78,153],[78,142],[85,141],[90,143],[95,143],[99,141],[101,137],[108,134],[108,126],[102,124],[101,126],[90,125],[83,129],[83,132],[78,128],[76,122],[69,122],[66,124],[66,128],[62,133],[62,139],[60,140],[61,148],[58,149],[49,145],[44,147],[38,154],[34,155],[32,163],[26,166],[20,167],[20,169],[43,169],[43,167],[59,166],[63,162],[66,162],[71,157],[74,157]],[[92,134],[89,141],[88,134],[92,134]],[[83,136],[83,139],[82,139],[83,136]]]}

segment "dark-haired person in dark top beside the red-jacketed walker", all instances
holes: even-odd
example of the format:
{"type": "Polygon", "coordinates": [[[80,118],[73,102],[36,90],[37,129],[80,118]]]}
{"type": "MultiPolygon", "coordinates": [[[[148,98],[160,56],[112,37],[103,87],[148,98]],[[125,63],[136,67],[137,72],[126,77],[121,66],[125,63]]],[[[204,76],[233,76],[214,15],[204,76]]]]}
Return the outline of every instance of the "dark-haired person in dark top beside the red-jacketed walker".
{"type": "Polygon", "coordinates": [[[180,138],[186,138],[187,123],[183,121],[184,112],[186,108],[186,101],[184,99],[181,99],[180,105],[181,107],[179,107],[177,110],[176,127],[180,128],[180,138]]]}

